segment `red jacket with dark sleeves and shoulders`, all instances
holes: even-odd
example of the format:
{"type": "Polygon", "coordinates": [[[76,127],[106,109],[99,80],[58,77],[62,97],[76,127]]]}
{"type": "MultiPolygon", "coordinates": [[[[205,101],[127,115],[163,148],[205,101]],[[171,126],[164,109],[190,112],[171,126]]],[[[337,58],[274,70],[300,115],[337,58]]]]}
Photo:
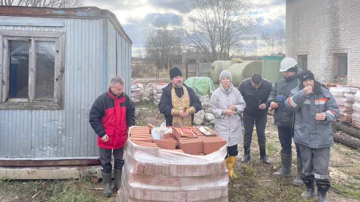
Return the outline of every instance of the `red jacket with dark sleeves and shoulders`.
{"type": "Polygon", "coordinates": [[[125,145],[127,127],[135,125],[135,107],[125,93],[116,96],[109,88],[92,104],[89,119],[98,135],[97,145],[105,149],[119,149],[125,145]],[[109,140],[104,142],[101,137],[106,134],[109,140]]]}

